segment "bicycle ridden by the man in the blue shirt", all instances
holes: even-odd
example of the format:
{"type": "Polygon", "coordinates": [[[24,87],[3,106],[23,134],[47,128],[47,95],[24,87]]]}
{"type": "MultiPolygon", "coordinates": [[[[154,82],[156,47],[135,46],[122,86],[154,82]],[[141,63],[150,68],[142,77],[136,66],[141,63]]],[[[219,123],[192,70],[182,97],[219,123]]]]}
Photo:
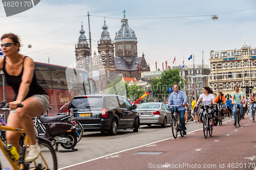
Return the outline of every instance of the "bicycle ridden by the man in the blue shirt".
{"type": "Polygon", "coordinates": [[[178,132],[180,132],[180,136],[183,137],[183,130],[181,128],[181,120],[180,120],[180,114],[177,112],[176,110],[176,106],[181,106],[182,103],[180,105],[172,105],[170,106],[170,108],[174,107],[174,117],[172,120],[172,132],[173,132],[173,136],[176,139],[178,132]]]}

